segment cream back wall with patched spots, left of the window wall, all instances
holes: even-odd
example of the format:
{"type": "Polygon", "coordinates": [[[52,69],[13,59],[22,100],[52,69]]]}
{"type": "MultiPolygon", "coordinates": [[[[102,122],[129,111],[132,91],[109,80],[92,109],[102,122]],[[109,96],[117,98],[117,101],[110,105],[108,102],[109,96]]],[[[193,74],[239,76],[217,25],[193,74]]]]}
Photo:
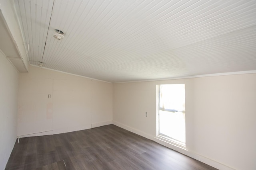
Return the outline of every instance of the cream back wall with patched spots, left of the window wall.
{"type": "Polygon", "coordinates": [[[18,136],[112,123],[111,83],[30,66],[29,73],[20,73],[19,84],[18,136]]]}

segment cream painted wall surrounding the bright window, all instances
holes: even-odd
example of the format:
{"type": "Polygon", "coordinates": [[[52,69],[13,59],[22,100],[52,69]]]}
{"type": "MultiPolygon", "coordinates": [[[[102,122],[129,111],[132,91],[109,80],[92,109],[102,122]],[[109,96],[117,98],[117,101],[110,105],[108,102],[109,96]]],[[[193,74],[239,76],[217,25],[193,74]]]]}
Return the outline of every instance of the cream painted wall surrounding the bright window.
{"type": "Polygon", "coordinates": [[[256,74],[114,84],[113,123],[154,140],[156,85],[180,83],[186,149],[226,167],[256,169],[256,74]]]}

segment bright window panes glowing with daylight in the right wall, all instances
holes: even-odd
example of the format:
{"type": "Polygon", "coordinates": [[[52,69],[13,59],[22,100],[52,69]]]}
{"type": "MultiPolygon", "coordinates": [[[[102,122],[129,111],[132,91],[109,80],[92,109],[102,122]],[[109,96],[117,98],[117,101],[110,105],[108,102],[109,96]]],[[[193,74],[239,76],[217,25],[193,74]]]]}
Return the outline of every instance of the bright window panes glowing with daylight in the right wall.
{"type": "Polygon", "coordinates": [[[159,135],[186,143],[185,84],[161,84],[159,135]]]}

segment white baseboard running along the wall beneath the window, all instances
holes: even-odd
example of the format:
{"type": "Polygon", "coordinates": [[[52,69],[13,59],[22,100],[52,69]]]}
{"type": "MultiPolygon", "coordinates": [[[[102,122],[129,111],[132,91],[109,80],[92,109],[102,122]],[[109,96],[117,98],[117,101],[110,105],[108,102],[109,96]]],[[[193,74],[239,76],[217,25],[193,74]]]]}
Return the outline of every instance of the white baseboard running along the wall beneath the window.
{"type": "Polygon", "coordinates": [[[210,165],[210,166],[212,166],[212,167],[214,167],[214,168],[217,168],[217,169],[219,169],[219,170],[234,170],[233,168],[230,168],[230,167],[228,167],[228,166],[226,166],[226,165],[224,165],[224,164],[221,164],[221,163],[219,163],[219,162],[216,162],[216,161],[214,161],[214,160],[211,160],[211,159],[209,159],[209,158],[206,158],[206,157],[204,157],[204,156],[202,156],[202,155],[200,155],[200,154],[196,154],[196,153],[194,153],[194,152],[192,152],[192,151],[190,151],[190,150],[186,150],[186,149],[184,149],[184,148],[182,148],[182,147],[175,146],[175,145],[172,144],[172,143],[168,143],[168,142],[166,142],[166,141],[163,141],[163,140],[161,140],[161,139],[158,139],[158,138],[156,138],[156,137],[154,137],[154,136],[152,136],[152,135],[149,135],[149,134],[144,133],[144,132],[142,132],[142,131],[140,131],[140,130],[138,130],[138,129],[134,129],[134,128],[130,127],[130,126],[124,125],[124,124],[119,123],[119,122],[117,122],[117,121],[114,121],[114,120],[113,120],[113,124],[116,125],[116,126],[118,126],[118,127],[123,128],[123,129],[126,129],[126,130],[128,130],[128,131],[131,131],[131,132],[133,132],[133,133],[136,133],[136,134],[138,134],[138,135],[140,135],[140,136],[142,136],[142,137],[145,137],[145,138],[147,138],[147,139],[150,139],[150,140],[152,140],[152,141],[155,141],[156,143],[159,143],[159,144],[161,144],[161,145],[164,145],[165,147],[168,147],[168,148],[170,148],[170,149],[176,150],[177,152],[180,152],[180,153],[182,153],[182,154],[184,154],[184,155],[186,155],[186,156],[189,156],[189,157],[191,157],[191,158],[194,158],[194,159],[196,159],[196,160],[199,160],[200,162],[203,162],[203,163],[205,163],[205,164],[208,164],[208,165],[210,165]]]}

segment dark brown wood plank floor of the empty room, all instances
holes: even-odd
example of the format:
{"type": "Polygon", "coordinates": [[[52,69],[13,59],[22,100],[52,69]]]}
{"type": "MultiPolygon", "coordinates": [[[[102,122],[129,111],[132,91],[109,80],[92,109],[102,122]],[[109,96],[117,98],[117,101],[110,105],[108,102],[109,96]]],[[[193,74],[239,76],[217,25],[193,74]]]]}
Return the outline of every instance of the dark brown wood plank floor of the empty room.
{"type": "Polygon", "coordinates": [[[115,125],[21,138],[6,170],[36,169],[216,170],[115,125]]]}

